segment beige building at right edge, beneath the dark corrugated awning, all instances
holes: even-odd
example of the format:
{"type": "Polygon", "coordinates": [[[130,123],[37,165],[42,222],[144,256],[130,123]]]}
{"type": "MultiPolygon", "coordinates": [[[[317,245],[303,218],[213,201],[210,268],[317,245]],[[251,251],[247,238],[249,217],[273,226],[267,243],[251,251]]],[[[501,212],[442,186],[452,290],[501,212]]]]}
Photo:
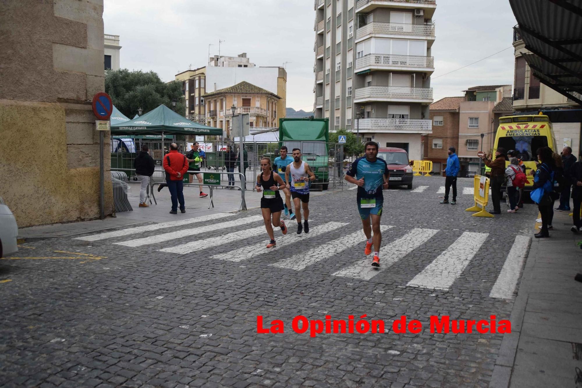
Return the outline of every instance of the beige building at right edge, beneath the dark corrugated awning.
{"type": "MultiPolygon", "coordinates": [[[[516,113],[538,112],[548,109],[580,109],[580,105],[565,95],[542,84],[526,63],[521,53],[530,54],[521,40],[519,33],[513,31],[513,48],[515,55],[513,109],[516,113]]],[[[553,122],[553,132],[556,137],[556,152],[561,152],[566,145],[572,147],[574,155],[580,155],[581,123],[553,122]]]]}

